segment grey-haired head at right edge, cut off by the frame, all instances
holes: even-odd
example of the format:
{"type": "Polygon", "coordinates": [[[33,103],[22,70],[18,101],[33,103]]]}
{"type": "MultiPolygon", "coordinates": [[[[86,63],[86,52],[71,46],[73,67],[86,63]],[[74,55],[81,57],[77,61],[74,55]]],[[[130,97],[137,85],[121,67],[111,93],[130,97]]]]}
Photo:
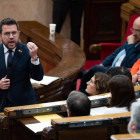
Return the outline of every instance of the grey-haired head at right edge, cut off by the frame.
{"type": "Polygon", "coordinates": [[[131,106],[131,119],[128,124],[129,134],[140,133],[140,102],[134,102],[131,106]]]}

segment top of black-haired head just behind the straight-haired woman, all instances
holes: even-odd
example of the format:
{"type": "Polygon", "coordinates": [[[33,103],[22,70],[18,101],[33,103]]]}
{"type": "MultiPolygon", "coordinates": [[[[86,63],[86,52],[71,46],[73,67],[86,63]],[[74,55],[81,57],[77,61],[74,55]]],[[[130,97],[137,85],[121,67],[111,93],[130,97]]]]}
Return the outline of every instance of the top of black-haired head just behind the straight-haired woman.
{"type": "Polygon", "coordinates": [[[125,67],[111,67],[109,68],[106,73],[108,75],[110,75],[111,77],[115,76],[115,75],[125,75],[128,76],[130,78],[130,80],[132,81],[132,75],[130,73],[130,70],[125,68],[125,67]]]}

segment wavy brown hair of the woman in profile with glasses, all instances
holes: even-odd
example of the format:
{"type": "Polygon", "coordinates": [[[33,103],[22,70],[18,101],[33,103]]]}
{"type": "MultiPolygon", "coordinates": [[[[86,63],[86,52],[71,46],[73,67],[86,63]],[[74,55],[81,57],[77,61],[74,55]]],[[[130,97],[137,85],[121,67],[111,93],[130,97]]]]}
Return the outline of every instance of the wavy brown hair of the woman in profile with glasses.
{"type": "Polygon", "coordinates": [[[109,92],[107,82],[110,80],[110,76],[103,72],[96,72],[94,75],[95,75],[95,86],[98,94],[109,92]]]}

